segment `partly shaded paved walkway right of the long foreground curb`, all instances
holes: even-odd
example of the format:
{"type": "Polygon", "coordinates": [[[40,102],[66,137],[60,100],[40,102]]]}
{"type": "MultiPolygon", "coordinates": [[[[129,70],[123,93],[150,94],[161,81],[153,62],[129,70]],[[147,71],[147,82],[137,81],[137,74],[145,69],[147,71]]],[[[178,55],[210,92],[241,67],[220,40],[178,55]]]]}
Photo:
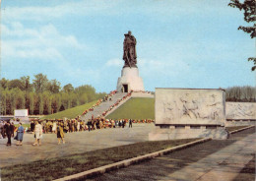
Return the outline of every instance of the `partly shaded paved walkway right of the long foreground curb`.
{"type": "MultiPolygon", "coordinates": [[[[232,135],[229,140],[214,140],[174,151],[92,180],[234,180],[255,155],[255,146],[256,133],[255,128],[252,128],[232,135]]],[[[255,175],[249,178],[254,181],[255,175]]]]}

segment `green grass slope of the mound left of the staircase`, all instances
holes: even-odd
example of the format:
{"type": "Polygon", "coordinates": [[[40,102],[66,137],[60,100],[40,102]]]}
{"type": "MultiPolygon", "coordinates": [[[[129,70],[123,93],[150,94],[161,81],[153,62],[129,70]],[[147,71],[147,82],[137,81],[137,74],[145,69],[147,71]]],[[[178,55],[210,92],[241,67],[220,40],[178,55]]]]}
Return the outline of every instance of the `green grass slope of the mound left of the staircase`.
{"type": "Polygon", "coordinates": [[[97,100],[86,103],[84,105],[79,105],[70,109],[63,110],[61,112],[57,112],[55,114],[50,114],[47,116],[43,116],[40,119],[63,119],[67,117],[69,119],[76,118],[77,116],[81,115],[86,109],[92,107],[97,100]]]}

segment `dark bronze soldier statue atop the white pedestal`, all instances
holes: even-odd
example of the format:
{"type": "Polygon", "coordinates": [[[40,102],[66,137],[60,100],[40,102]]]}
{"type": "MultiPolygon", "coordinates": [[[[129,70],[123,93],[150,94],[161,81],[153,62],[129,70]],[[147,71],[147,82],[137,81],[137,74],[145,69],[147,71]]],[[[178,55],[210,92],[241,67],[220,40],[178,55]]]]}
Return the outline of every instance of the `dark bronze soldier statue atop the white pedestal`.
{"type": "Polygon", "coordinates": [[[123,41],[123,68],[137,68],[136,38],[132,35],[132,32],[130,30],[128,31],[128,33],[124,34],[124,36],[125,38],[123,41]]]}

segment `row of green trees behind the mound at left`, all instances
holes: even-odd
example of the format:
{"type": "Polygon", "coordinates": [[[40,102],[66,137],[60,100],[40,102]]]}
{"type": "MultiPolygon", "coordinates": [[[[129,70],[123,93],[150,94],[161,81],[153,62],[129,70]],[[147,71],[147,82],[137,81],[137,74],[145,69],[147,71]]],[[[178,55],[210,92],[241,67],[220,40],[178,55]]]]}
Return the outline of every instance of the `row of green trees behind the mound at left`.
{"type": "Polygon", "coordinates": [[[105,92],[96,92],[90,85],[61,88],[57,80],[48,80],[37,74],[32,79],[0,80],[0,114],[13,115],[15,109],[29,109],[30,115],[47,115],[102,98],[105,92]]]}

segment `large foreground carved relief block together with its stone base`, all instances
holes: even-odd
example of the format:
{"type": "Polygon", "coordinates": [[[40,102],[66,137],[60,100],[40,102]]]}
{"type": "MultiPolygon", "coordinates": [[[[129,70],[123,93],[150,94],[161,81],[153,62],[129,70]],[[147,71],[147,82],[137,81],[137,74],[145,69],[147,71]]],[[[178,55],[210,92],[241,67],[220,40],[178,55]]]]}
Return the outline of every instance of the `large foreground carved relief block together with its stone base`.
{"type": "Polygon", "coordinates": [[[149,140],[226,139],[223,90],[156,89],[149,140]]]}

